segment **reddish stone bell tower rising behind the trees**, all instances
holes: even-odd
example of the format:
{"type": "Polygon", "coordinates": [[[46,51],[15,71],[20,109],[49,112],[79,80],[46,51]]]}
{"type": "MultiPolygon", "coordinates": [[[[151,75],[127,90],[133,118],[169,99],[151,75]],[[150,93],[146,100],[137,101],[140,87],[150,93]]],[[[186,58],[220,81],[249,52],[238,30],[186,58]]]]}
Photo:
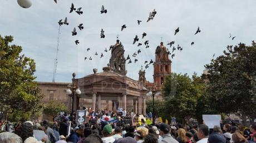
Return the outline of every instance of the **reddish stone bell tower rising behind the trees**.
{"type": "Polygon", "coordinates": [[[169,54],[163,42],[156,47],[155,55],[154,84],[156,90],[160,90],[165,82],[165,77],[171,73],[171,60],[169,59],[169,54]]]}

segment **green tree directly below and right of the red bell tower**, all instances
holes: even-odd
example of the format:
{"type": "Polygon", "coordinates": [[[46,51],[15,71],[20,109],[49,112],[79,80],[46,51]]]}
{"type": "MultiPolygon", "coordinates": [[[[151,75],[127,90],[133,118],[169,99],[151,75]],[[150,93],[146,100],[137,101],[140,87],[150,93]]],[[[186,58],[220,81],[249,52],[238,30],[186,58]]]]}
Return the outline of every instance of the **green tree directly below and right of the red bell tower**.
{"type": "Polygon", "coordinates": [[[163,96],[166,114],[175,116],[188,124],[189,119],[196,116],[198,99],[206,92],[204,81],[194,74],[192,79],[187,74],[171,73],[166,77],[163,96]]]}

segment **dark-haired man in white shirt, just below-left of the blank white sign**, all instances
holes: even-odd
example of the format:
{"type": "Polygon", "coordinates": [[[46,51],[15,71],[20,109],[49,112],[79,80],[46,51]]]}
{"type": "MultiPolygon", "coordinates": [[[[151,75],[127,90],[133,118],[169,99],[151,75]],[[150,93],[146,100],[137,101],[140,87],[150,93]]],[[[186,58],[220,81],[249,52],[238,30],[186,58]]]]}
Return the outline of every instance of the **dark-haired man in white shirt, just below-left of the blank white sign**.
{"type": "Polygon", "coordinates": [[[200,139],[197,143],[207,143],[209,136],[209,127],[206,125],[200,125],[198,127],[198,139],[200,139]]]}

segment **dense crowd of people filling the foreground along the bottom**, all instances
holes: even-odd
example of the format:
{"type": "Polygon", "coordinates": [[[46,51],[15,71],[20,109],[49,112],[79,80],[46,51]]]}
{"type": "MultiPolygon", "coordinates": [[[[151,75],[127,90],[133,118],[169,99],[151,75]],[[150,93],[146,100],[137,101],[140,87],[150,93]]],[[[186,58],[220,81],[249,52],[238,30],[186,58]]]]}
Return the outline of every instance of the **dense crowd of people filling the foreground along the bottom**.
{"type": "Polygon", "coordinates": [[[125,122],[103,121],[100,123],[69,126],[68,118],[41,123],[26,121],[21,125],[6,122],[0,134],[1,143],[244,143],[256,142],[256,123],[249,128],[232,123],[214,126],[213,129],[202,125],[168,125],[165,123],[132,125],[125,122]],[[70,130],[69,130],[70,129],[70,130]]]}

